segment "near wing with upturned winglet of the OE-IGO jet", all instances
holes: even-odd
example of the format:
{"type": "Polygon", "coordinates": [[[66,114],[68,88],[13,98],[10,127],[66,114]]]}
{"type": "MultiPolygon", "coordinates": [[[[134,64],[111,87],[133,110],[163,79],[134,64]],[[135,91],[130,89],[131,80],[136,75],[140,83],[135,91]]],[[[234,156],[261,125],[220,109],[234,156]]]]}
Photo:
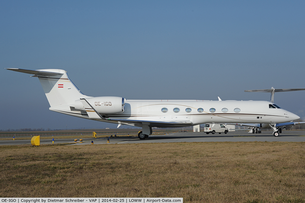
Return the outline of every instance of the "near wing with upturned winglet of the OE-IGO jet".
{"type": "Polygon", "coordinates": [[[117,119],[117,118],[104,118],[100,115],[86,99],[81,99],[81,103],[84,105],[85,110],[91,119],[102,119],[108,122],[114,122],[119,125],[149,125],[151,127],[183,127],[190,126],[193,123],[191,121],[186,120],[178,120],[178,121],[141,121],[141,120],[129,120],[129,119],[117,119]]]}

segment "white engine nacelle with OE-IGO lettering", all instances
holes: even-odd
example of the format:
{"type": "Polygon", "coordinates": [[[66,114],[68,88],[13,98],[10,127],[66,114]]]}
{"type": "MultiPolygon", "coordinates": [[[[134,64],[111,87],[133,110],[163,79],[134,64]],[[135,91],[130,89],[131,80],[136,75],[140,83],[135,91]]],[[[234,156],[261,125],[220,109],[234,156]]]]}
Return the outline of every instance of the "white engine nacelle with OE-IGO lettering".
{"type": "MultiPolygon", "coordinates": [[[[117,96],[97,96],[86,99],[101,115],[119,114],[124,112],[125,99],[117,96]]],[[[75,100],[74,108],[85,111],[81,100],[75,100]]]]}

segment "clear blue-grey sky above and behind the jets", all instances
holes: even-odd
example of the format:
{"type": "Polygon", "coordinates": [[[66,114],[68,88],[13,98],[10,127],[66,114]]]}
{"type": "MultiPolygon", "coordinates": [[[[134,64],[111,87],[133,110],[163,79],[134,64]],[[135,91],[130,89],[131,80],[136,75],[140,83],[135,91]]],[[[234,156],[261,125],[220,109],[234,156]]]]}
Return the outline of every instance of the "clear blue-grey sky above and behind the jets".
{"type": "MultiPolygon", "coordinates": [[[[2,1],[0,129],[105,128],[48,110],[37,78],[59,68],[88,96],[269,100],[305,88],[304,1],[2,1]]],[[[275,103],[305,118],[305,91],[275,103]]]]}

